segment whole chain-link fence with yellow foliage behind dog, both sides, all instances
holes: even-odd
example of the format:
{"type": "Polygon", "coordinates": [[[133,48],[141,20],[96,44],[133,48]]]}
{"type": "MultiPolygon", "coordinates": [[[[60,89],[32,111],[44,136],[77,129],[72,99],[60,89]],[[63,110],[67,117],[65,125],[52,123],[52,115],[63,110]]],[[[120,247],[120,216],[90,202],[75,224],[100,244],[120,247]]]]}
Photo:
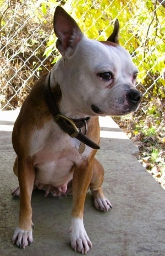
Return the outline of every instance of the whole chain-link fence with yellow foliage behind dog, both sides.
{"type": "Polygon", "coordinates": [[[144,99],[136,115],[116,120],[141,154],[152,153],[155,145],[162,149],[165,1],[161,0],[0,0],[0,109],[20,107],[35,80],[56,62],[53,13],[59,4],[92,39],[105,40],[119,19],[120,43],[140,70],[138,88],[144,99]]]}

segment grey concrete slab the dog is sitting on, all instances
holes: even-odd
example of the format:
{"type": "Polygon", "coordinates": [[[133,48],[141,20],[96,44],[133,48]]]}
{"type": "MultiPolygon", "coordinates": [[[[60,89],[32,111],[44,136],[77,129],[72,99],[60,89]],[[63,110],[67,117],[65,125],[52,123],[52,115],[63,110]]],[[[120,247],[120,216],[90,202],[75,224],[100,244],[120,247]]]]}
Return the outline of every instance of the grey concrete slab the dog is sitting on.
{"type": "MultiPolygon", "coordinates": [[[[11,189],[18,184],[12,172],[15,153],[11,131],[17,112],[0,112],[0,255],[76,255],[70,247],[72,197],[32,195],[34,242],[25,250],[13,246],[11,238],[18,221],[19,199],[11,189]]],[[[89,256],[164,256],[165,192],[136,160],[136,147],[109,117],[100,118],[101,150],[105,167],[103,189],[113,209],[101,213],[90,193],[85,202],[84,224],[92,241],[89,256]]]]}

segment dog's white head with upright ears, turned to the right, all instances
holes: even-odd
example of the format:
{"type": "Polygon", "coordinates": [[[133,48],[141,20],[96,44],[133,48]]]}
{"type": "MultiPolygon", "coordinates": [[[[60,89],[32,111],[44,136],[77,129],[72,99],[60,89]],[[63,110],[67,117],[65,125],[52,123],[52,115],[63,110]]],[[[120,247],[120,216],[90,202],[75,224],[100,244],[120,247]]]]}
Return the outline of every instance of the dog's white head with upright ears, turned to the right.
{"type": "Polygon", "coordinates": [[[117,116],[136,111],[141,93],[136,90],[138,69],[118,42],[116,20],[107,41],[88,39],[61,7],[54,13],[56,46],[63,58],[53,68],[62,90],[63,112],[72,118],[117,116]]]}

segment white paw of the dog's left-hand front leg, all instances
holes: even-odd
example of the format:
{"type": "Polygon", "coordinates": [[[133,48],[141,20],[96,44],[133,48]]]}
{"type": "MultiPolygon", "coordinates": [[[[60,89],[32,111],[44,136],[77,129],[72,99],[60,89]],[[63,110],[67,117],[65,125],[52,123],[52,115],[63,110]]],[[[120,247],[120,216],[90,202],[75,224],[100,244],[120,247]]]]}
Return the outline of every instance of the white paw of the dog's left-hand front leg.
{"type": "Polygon", "coordinates": [[[17,244],[19,248],[25,249],[26,246],[30,246],[32,243],[32,231],[20,230],[20,228],[17,227],[12,241],[13,243],[17,244]]]}

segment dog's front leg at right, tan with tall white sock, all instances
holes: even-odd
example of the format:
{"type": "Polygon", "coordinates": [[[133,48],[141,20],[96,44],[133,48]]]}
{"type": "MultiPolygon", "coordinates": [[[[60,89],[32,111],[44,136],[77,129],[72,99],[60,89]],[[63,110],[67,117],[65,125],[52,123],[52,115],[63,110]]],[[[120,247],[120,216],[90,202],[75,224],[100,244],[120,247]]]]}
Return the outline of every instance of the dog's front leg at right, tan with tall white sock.
{"type": "Polygon", "coordinates": [[[73,175],[73,210],[71,223],[71,245],[73,249],[86,254],[92,243],[87,236],[83,222],[84,202],[92,178],[92,161],[75,167],[73,175]]]}

